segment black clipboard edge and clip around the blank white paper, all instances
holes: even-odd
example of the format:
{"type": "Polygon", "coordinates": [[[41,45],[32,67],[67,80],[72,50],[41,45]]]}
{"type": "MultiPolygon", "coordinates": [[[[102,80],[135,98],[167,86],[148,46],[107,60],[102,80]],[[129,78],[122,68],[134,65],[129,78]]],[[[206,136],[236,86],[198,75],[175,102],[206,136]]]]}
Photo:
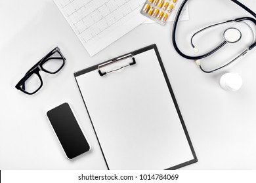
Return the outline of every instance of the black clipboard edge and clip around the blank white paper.
{"type": "MultiPolygon", "coordinates": [[[[96,138],[97,138],[97,140],[98,140],[98,144],[100,145],[100,149],[101,149],[101,151],[102,151],[102,155],[104,156],[104,160],[106,161],[106,165],[107,165],[108,169],[110,169],[110,167],[109,167],[109,165],[108,165],[108,158],[106,158],[106,156],[105,156],[105,154],[104,154],[104,149],[102,148],[101,140],[100,140],[99,137],[98,137],[97,129],[96,129],[96,127],[95,127],[95,124],[94,124],[94,122],[93,122],[93,119],[91,118],[90,111],[89,111],[89,109],[88,109],[88,107],[87,107],[87,101],[86,101],[85,96],[84,96],[84,93],[83,93],[83,91],[82,91],[83,89],[81,88],[81,84],[79,84],[79,81],[77,80],[77,77],[82,76],[82,75],[86,75],[87,73],[90,73],[91,71],[97,71],[99,77],[102,77],[102,76],[104,77],[104,75],[108,75],[108,73],[112,73],[112,72],[114,72],[114,71],[118,71],[119,69],[123,69],[123,68],[128,67],[128,66],[131,66],[131,65],[136,65],[136,59],[135,59],[134,57],[136,57],[138,54],[142,54],[143,52],[147,52],[148,50],[154,50],[154,52],[156,53],[156,56],[157,56],[157,58],[158,58],[158,62],[159,62],[160,67],[161,67],[162,74],[163,74],[163,76],[164,76],[164,78],[165,78],[165,82],[166,82],[166,84],[167,84],[169,93],[171,94],[171,98],[172,98],[172,100],[173,100],[173,103],[174,103],[174,105],[175,105],[177,114],[178,114],[178,116],[179,116],[179,121],[181,122],[182,129],[183,129],[183,131],[184,131],[184,134],[186,135],[186,140],[187,140],[187,142],[188,142],[188,144],[189,144],[189,148],[190,148],[190,151],[191,151],[191,153],[192,153],[192,158],[189,159],[188,161],[181,162],[181,163],[179,163],[179,164],[177,164],[177,165],[174,165],[174,166],[171,166],[171,167],[168,167],[168,168],[165,168],[165,169],[179,169],[179,168],[181,168],[181,167],[184,167],[184,166],[186,166],[186,165],[190,165],[190,164],[195,163],[195,162],[198,161],[198,159],[197,159],[197,157],[196,157],[196,153],[195,153],[194,148],[193,148],[193,146],[192,146],[192,142],[190,141],[190,137],[189,137],[189,135],[188,135],[188,131],[187,131],[186,126],[185,126],[185,124],[184,124],[184,121],[183,121],[183,119],[182,119],[181,111],[179,110],[178,103],[177,103],[177,101],[176,101],[176,99],[175,99],[175,95],[174,95],[174,93],[173,93],[173,90],[172,90],[172,88],[171,88],[171,84],[170,84],[169,79],[168,79],[168,77],[167,77],[167,73],[166,73],[165,68],[164,68],[164,66],[163,66],[163,62],[161,61],[161,57],[160,57],[160,54],[159,54],[159,52],[158,52],[158,48],[157,48],[156,44],[152,44],[152,45],[150,45],[150,46],[146,46],[146,47],[141,48],[141,49],[139,49],[139,50],[135,50],[135,51],[133,51],[133,52],[129,52],[128,54],[119,56],[119,57],[114,58],[114,59],[110,59],[110,60],[105,61],[105,62],[103,62],[103,63],[94,65],[93,67],[89,67],[89,68],[87,68],[87,69],[83,69],[83,70],[81,70],[81,71],[78,71],[78,72],[74,73],[75,80],[76,80],[76,82],[77,82],[77,86],[78,86],[78,88],[79,88],[79,91],[80,91],[80,93],[81,93],[81,96],[83,97],[83,101],[84,101],[85,107],[86,107],[87,112],[88,112],[88,114],[89,114],[89,118],[90,118],[90,120],[91,120],[91,124],[93,125],[93,129],[94,129],[94,131],[95,131],[95,135],[96,135],[96,138]],[[102,70],[101,70],[102,67],[105,67],[106,65],[110,65],[110,64],[112,64],[112,63],[116,63],[116,62],[119,61],[120,59],[126,59],[126,58],[129,58],[129,57],[131,57],[131,61],[130,61],[129,63],[127,63],[126,65],[123,65],[123,66],[118,67],[117,69],[113,69],[113,70],[111,70],[111,71],[102,71],[102,70]]],[[[135,67],[136,67],[136,66],[135,66],[135,67]]]]}

